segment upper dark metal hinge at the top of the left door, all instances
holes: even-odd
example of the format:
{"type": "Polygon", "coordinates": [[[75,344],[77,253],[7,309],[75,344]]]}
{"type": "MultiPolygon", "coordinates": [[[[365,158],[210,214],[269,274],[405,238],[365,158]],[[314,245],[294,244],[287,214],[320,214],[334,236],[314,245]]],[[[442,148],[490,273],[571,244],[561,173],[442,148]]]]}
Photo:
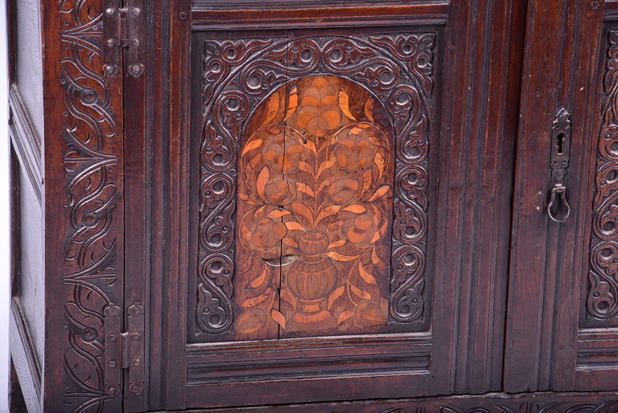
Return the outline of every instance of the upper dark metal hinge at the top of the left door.
{"type": "Polygon", "coordinates": [[[103,73],[115,76],[124,58],[126,73],[144,73],[144,0],[105,0],[103,8],[103,73]],[[124,51],[124,56],[123,56],[124,51]]]}

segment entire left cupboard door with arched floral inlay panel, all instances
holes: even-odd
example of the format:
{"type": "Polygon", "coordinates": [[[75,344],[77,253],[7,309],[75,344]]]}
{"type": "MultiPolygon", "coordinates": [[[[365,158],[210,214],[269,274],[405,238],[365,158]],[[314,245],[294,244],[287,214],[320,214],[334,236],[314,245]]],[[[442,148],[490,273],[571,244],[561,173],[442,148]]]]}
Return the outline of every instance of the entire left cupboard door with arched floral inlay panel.
{"type": "Polygon", "coordinates": [[[523,6],[146,5],[131,410],[501,389],[523,6]]]}

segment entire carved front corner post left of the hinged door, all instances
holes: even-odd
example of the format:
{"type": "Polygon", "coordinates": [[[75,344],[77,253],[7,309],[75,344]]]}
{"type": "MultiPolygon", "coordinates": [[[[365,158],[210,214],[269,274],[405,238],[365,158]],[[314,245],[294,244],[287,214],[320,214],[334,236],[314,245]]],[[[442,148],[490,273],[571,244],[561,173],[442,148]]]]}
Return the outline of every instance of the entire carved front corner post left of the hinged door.
{"type": "Polygon", "coordinates": [[[45,411],[122,405],[104,388],[102,322],[124,307],[122,78],[102,75],[102,3],[86,3],[41,3],[45,411]]]}

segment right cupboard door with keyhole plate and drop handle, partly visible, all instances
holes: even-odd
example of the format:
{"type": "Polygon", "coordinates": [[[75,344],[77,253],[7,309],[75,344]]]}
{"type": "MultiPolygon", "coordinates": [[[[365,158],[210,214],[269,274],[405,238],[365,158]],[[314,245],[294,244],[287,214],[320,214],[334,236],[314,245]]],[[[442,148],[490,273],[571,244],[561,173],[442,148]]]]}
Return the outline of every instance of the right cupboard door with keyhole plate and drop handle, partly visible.
{"type": "Polygon", "coordinates": [[[529,6],[509,392],[615,390],[617,383],[617,12],[616,1],[529,6]]]}

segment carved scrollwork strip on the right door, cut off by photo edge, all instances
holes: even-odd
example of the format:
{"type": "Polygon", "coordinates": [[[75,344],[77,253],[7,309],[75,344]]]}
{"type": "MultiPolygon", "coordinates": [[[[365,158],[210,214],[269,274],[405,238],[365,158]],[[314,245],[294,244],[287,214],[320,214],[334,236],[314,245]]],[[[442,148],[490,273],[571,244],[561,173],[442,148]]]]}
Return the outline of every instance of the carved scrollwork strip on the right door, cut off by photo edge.
{"type": "MultiPolygon", "coordinates": [[[[586,318],[618,314],[618,32],[608,33],[597,149],[586,318]]],[[[596,325],[596,324],[595,324],[596,325]]]]}

